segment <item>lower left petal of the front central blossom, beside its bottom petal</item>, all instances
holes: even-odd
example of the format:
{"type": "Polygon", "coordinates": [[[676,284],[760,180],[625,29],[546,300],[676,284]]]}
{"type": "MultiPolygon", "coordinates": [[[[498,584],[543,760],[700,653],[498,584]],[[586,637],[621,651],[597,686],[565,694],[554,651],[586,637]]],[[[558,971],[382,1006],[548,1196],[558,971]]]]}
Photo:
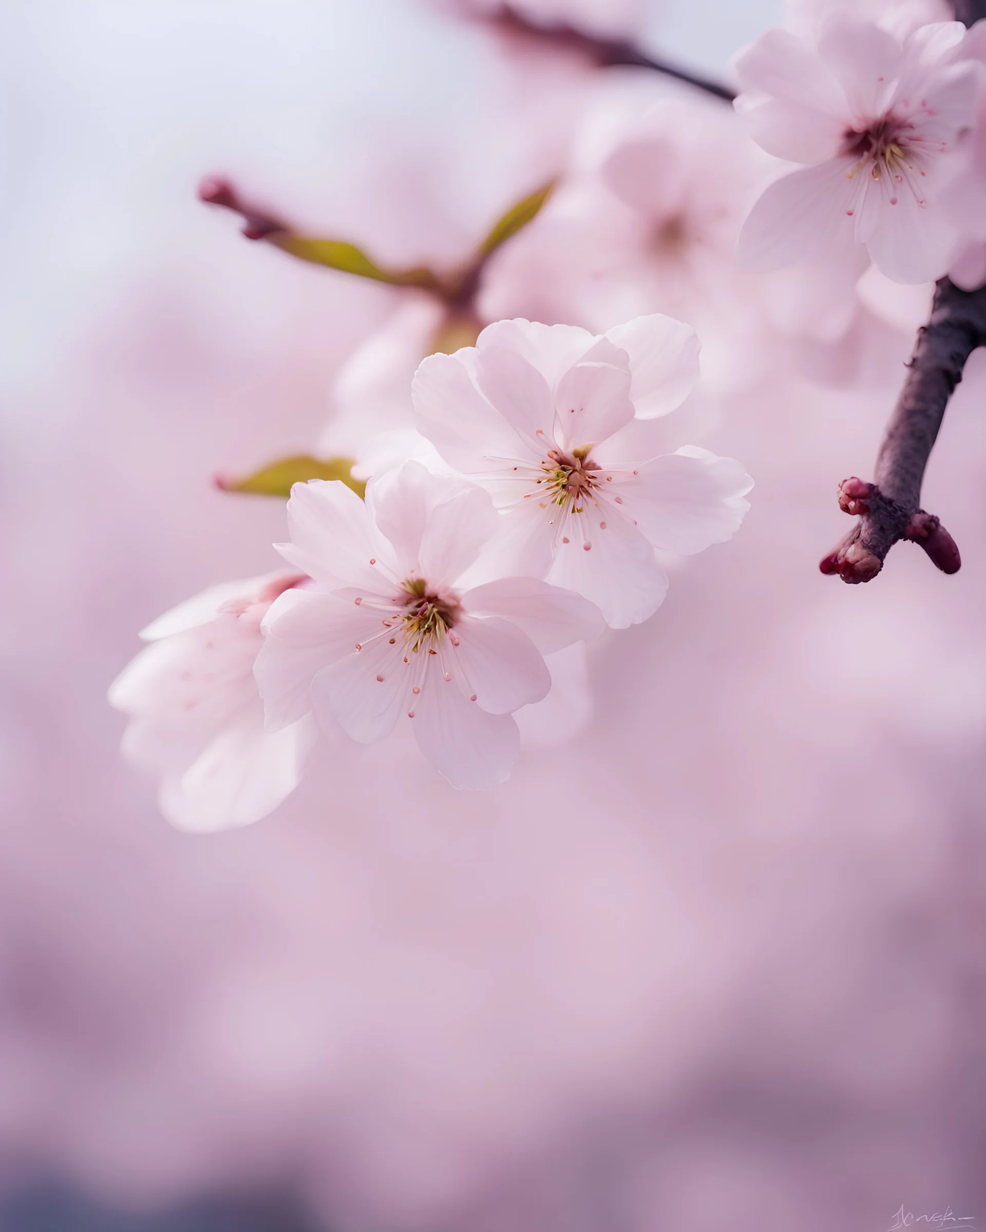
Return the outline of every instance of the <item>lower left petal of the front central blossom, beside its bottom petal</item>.
{"type": "Polygon", "coordinates": [[[412,687],[420,687],[426,667],[420,658],[426,652],[415,654],[399,633],[392,636],[394,646],[378,637],[316,675],[312,706],[319,724],[338,721],[360,744],[389,736],[401,715],[412,708],[412,687]]]}

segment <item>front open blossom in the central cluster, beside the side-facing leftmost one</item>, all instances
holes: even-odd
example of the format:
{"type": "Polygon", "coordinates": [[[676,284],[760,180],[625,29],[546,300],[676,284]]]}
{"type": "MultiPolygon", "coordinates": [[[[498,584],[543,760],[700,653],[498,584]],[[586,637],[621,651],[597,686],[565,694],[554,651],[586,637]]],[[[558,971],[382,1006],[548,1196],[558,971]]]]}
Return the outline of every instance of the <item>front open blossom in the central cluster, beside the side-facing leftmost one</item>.
{"type": "Polygon", "coordinates": [[[452,786],[509,777],[513,712],[547,694],[546,653],[598,636],[597,609],[535,578],[462,585],[499,516],[481,488],[418,462],[373,478],[365,504],[341,483],[295,484],[287,513],[279,549],[314,585],[264,621],[267,728],[314,711],[370,744],[407,715],[452,786]]]}

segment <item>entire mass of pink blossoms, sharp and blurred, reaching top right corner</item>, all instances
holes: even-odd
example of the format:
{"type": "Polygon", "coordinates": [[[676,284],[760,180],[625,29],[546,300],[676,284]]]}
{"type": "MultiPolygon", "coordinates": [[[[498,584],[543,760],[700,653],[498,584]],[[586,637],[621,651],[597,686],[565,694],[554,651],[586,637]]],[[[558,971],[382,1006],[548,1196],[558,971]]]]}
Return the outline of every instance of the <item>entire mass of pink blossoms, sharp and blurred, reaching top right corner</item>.
{"type": "MultiPolygon", "coordinates": [[[[155,621],[111,690],[175,824],[255,821],[398,724],[454,786],[505,780],[573,655],[740,527],[752,479],[700,444],[725,414],[866,379],[932,282],[986,280],[986,32],[945,9],[797,0],[737,55],[735,111],[587,70],[553,193],[463,254],[475,286],[373,267],[389,312],[318,442],[350,479],[296,483],[291,572],[155,621]]],[[[322,260],[283,225],[254,232],[322,260]]]]}

